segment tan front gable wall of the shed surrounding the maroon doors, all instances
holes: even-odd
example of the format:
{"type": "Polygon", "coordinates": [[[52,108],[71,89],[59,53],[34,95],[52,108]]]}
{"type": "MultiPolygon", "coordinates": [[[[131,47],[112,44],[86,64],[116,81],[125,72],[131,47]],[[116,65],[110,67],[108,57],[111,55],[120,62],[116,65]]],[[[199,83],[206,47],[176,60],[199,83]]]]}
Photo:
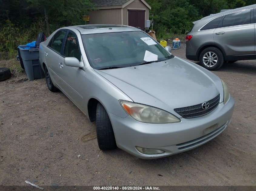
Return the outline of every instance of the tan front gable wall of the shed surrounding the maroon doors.
{"type": "Polygon", "coordinates": [[[123,24],[124,25],[128,25],[128,9],[145,9],[145,20],[149,19],[149,8],[142,3],[140,0],[135,0],[134,2],[130,3],[129,5],[127,5],[126,7],[123,8],[123,24]]]}

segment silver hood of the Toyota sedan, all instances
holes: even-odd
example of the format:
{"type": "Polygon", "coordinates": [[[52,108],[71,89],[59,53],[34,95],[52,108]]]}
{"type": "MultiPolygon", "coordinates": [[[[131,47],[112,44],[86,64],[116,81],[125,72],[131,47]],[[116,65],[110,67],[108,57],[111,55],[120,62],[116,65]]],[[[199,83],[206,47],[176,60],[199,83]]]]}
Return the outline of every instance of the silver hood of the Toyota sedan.
{"type": "Polygon", "coordinates": [[[134,102],[171,113],[175,108],[203,103],[218,94],[223,100],[220,78],[178,57],[146,65],[95,71],[134,102]]]}

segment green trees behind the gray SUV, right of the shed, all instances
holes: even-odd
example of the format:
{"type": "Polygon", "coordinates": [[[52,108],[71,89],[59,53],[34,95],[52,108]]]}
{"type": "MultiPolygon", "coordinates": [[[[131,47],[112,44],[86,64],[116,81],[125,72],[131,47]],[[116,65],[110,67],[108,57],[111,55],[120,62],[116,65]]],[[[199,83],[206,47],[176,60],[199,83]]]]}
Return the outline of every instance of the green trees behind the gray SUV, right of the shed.
{"type": "MultiPolygon", "coordinates": [[[[255,0],[146,0],[154,14],[154,29],[159,33],[186,33],[192,22],[221,9],[252,5],[255,0]]],[[[152,19],[152,17],[151,17],[152,19]]]]}

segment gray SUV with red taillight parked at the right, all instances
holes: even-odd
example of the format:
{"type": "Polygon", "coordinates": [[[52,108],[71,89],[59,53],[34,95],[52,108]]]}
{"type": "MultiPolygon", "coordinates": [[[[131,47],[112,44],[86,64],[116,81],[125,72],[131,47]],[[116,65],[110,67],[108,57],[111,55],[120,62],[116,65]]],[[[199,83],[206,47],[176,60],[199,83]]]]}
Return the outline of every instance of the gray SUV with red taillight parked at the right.
{"type": "Polygon", "coordinates": [[[186,36],[187,59],[208,70],[224,62],[256,59],[256,4],[194,21],[186,36]]]}

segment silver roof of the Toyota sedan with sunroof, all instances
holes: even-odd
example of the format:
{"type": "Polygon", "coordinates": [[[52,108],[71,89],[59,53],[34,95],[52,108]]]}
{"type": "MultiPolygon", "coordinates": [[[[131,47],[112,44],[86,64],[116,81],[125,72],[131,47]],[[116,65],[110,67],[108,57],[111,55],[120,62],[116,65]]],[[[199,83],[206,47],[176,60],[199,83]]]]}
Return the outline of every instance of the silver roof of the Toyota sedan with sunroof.
{"type": "Polygon", "coordinates": [[[70,29],[77,29],[81,34],[95,34],[95,33],[113,33],[113,32],[125,32],[125,31],[141,31],[138,28],[117,25],[117,24],[86,24],[65,27],[70,29]]]}

